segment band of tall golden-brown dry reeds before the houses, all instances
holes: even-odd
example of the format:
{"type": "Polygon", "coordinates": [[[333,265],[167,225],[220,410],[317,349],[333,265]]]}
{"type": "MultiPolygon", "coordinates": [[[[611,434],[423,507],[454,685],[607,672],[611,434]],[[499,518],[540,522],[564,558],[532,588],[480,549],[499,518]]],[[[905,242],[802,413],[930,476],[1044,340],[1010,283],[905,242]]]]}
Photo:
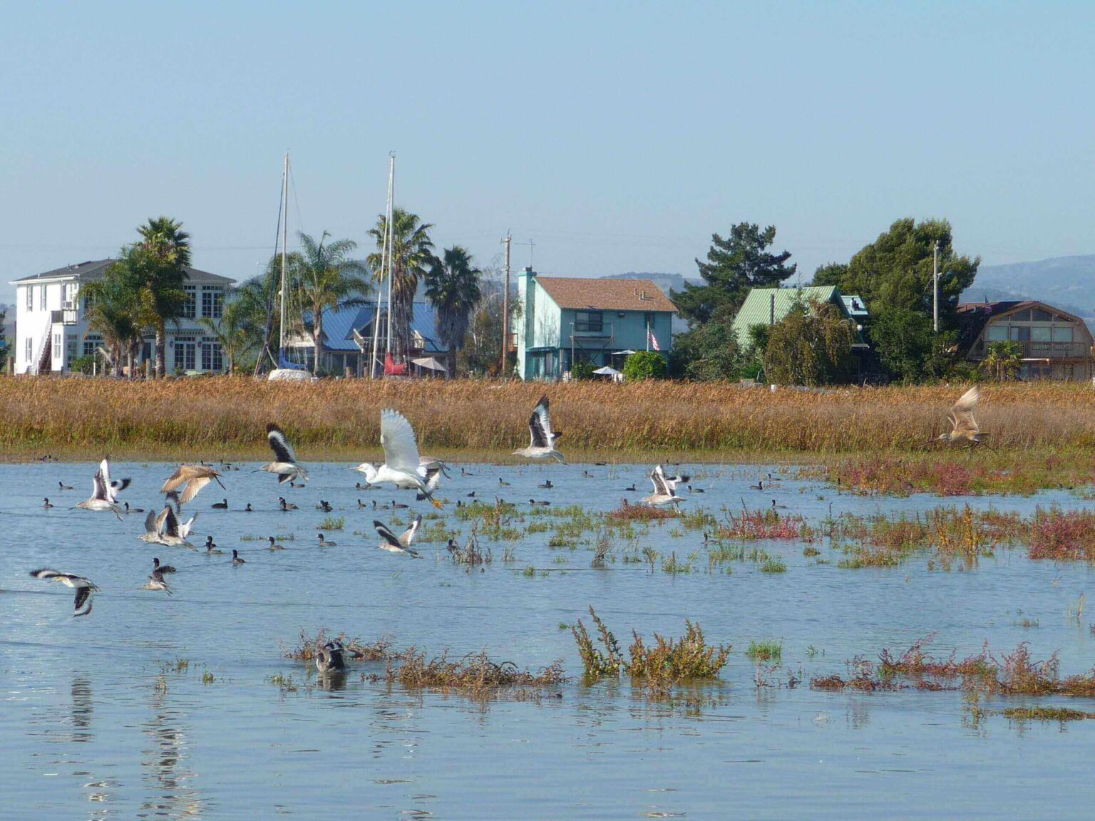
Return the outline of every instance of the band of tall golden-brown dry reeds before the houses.
{"type": "MultiPolygon", "coordinates": [[[[304,459],[376,450],[380,409],[404,412],[424,449],[502,455],[527,443],[542,393],[573,453],[863,453],[923,451],[961,392],[949,388],[780,390],[728,383],[526,384],[249,378],[125,382],[0,378],[0,444],[9,452],[85,449],[207,455],[265,451],[277,420],[304,459]],[[309,452],[311,451],[311,452],[309,452]]],[[[990,385],[979,419],[998,449],[1095,444],[1095,394],[1082,384],[990,385]]],[[[980,458],[980,456],[979,456],[980,458]]]]}

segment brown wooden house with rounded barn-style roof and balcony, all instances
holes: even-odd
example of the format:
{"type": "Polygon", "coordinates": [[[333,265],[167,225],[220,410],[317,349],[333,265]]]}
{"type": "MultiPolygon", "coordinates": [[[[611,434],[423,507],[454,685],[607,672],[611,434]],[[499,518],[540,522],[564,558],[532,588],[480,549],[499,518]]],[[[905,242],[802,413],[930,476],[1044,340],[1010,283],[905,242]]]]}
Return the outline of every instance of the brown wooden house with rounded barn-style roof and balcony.
{"type": "Polygon", "coordinates": [[[1023,363],[1019,379],[1090,380],[1095,375],[1092,338],[1079,316],[1036,300],[967,302],[958,305],[959,348],[982,362],[989,346],[1012,342],[1023,363]]]}

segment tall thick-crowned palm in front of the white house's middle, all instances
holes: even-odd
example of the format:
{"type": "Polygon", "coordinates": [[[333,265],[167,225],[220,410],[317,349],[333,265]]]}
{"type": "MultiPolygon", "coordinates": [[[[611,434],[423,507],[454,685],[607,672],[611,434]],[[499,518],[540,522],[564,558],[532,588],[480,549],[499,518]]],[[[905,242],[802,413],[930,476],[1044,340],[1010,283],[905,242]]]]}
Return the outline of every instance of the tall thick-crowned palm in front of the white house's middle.
{"type": "Polygon", "coordinates": [[[141,240],[131,246],[135,253],[123,259],[136,280],[141,323],[155,332],[157,378],[164,375],[166,324],[177,323],[186,310],[191,235],[182,227],[170,217],[149,219],[137,229],[141,240]]]}

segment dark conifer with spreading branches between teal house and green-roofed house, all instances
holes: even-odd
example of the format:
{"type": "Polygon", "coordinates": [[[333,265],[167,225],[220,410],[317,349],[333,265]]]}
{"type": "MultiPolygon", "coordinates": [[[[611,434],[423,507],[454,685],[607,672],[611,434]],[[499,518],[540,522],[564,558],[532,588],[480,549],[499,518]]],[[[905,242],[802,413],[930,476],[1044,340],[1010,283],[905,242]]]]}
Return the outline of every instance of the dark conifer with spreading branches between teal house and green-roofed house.
{"type": "Polygon", "coordinates": [[[683,291],[671,291],[680,315],[689,327],[702,325],[713,317],[731,320],[745,302],[750,288],[776,286],[792,276],[796,265],[787,265],[791,252],[772,254],[766,251],[775,242],[775,226],[761,230],[750,222],[739,222],[730,235],[711,238],[707,262],[695,261],[706,285],[684,284],[683,291]]]}

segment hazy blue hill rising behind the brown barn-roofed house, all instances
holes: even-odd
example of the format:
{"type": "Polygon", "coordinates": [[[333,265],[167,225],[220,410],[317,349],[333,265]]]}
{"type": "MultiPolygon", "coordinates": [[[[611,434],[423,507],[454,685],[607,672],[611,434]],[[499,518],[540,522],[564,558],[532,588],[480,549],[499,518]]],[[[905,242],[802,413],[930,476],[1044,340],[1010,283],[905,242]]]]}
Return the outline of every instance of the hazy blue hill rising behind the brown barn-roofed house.
{"type": "Polygon", "coordinates": [[[1036,263],[982,265],[963,302],[1036,299],[1095,321],[1095,254],[1036,263]]]}

